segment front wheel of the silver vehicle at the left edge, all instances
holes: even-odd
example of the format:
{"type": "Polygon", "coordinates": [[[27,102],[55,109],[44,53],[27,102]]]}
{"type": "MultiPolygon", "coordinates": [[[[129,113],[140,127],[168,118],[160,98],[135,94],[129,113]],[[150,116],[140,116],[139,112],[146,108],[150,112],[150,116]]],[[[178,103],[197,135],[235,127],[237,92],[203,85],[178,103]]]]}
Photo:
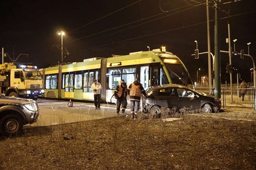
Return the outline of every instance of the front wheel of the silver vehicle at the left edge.
{"type": "Polygon", "coordinates": [[[3,135],[17,134],[23,125],[20,117],[15,114],[8,114],[0,120],[0,132],[3,135]]]}

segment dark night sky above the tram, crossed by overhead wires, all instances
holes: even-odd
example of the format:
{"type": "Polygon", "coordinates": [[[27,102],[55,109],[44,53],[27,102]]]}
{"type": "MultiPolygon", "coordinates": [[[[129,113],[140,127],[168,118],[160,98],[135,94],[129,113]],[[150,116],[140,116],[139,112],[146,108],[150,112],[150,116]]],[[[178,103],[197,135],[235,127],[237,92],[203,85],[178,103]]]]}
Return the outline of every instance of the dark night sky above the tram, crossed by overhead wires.
{"type": "MultiPolygon", "coordinates": [[[[166,46],[186,65],[196,81],[199,74],[208,75],[208,55],[191,56],[198,42],[199,52],[207,52],[206,0],[93,0],[93,1],[0,1],[1,59],[2,47],[15,63],[37,65],[39,68],[57,65],[61,51],[58,31],[65,31],[63,45],[70,55],[64,62],[112,55],[126,55],[166,46]],[[197,3],[198,2],[198,3],[197,3]]],[[[214,1],[209,0],[210,42],[214,54],[214,1]]],[[[231,47],[245,50],[256,62],[255,0],[221,0],[219,11],[220,47],[228,51],[228,22],[231,47]],[[231,2],[231,3],[227,3],[231,2]]],[[[4,62],[11,62],[9,57],[4,62]]],[[[2,61],[1,61],[2,63],[2,61]]],[[[221,53],[221,82],[230,82],[225,73],[229,56],[221,53]]],[[[232,57],[241,79],[251,81],[252,61],[249,57],[232,57]]],[[[236,82],[236,74],[233,82],[236,82]]]]}

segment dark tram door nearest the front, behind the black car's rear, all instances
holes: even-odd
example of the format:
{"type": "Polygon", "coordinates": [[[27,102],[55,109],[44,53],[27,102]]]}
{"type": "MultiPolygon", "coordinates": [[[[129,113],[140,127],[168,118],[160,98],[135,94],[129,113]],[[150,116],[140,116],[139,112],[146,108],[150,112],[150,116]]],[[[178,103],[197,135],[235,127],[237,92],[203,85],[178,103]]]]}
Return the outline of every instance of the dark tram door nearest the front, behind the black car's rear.
{"type": "Polygon", "coordinates": [[[160,62],[149,64],[149,86],[160,85],[160,67],[160,62]]]}

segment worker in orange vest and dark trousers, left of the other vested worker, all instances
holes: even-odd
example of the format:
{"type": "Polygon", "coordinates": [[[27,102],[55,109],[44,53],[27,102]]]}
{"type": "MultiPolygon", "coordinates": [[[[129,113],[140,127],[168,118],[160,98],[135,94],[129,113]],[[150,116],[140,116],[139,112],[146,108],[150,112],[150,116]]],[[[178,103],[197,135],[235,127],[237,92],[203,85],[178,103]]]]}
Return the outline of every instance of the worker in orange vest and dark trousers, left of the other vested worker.
{"type": "Polygon", "coordinates": [[[119,115],[120,112],[120,106],[122,107],[122,113],[125,113],[125,109],[127,107],[127,85],[124,80],[121,80],[121,84],[117,85],[114,91],[114,96],[117,99],[117,115],[119,115]]]}

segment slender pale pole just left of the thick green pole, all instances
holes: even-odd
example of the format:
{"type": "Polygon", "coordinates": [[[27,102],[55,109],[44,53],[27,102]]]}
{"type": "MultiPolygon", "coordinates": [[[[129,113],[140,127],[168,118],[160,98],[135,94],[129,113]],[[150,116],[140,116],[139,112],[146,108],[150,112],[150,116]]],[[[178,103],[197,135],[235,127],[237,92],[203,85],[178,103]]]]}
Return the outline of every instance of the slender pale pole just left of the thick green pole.
{"type": "MultiPolygon", "coordinates": [[[[206,18],[207,18],[207,44],[208,44],[208,81],[209,90],[212,89],[212,69],[211,69],[211,46],[210,46],[210,24],[209,24],[209,6],[208,0],[206,0],[206,18]]],[[[212,61],[214,62],[214,61],[212,61]]],[[[212,93],[212,91],[211,91],[212,93]]]]}

